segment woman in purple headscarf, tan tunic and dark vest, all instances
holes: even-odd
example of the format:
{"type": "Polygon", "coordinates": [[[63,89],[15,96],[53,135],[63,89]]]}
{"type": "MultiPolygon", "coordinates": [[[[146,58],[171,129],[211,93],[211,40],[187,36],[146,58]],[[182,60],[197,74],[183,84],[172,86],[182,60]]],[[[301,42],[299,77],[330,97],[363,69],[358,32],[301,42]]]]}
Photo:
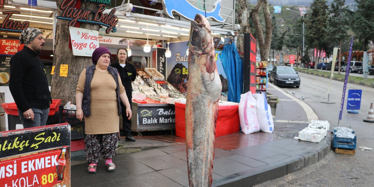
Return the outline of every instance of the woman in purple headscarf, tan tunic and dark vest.
{"type": "Polygon", "coordinates": [[[82,71],[76,89],[76,115],[80,121],[85,116],[85,152],[89,163],[87,171],[91,174],[96,173],[100,154],[108,172],[116,171],[112,158],[118,140],[120,102],[126,106],[128,119],[132,116],[118,71],[109,67],[110,59],[107,48],[96,48],[92,53],[93,65],[82,71]]]}

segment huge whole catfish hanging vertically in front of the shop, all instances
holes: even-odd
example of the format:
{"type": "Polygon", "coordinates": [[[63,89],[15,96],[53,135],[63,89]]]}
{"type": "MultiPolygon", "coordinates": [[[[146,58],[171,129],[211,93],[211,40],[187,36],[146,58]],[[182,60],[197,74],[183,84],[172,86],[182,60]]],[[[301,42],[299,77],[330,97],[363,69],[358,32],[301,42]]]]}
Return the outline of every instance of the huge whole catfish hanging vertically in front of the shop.
{"type": "Polygon", "coordinates": [[[189,43],[186,102],[188,180],[190,187],[210,187],[222,85],[215,64],[211,26],[201,14],[191,21],[189,43]]]}

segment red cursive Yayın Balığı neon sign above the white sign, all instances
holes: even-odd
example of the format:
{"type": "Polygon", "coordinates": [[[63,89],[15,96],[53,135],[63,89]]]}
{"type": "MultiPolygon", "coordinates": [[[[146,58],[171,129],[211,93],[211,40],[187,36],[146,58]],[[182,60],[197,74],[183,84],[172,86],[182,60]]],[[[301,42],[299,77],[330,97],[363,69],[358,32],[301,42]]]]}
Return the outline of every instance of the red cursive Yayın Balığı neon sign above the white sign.
{"type": "Polygon", "coordinates": [[[116,25],[118,23],[118,18],[114,15],[116,9],[112,9],[110,13],[103,13],[106,7],[105,4],[98,4],[98,9],[96,11],[77,9],[74,8],[76,1],[77,0],[63,0],[59,6],[59,9],[62,10],[62,14],[56,18],[70,21],[68,24],[70,27],[74,27],[77,22],[83,22],[103,25],[107,27],[105,30],[107,34],[117,31],[116,25]],[[89,20],[88,17],[91,14],[93,17],[89,20]]]}

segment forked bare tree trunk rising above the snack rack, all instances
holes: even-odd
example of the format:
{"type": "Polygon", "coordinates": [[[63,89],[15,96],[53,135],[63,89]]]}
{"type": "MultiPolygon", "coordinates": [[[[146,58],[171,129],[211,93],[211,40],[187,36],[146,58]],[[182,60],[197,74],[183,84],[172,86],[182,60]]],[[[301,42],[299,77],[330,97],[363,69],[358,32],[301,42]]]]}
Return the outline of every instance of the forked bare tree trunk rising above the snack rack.
{"type": "Polygon", "coordinates": [[[266,61],[269,56],[270,43],[272,41],[272,19],[270,18],[268,0],[258,0],[250,15],[256,29],[258,46],[260,47],[261,61],[266,61]],[[260,19],[258,18],[258,13],[260,12],[261,7],[263,8],[265,18],[265,37],[260,19]]]}

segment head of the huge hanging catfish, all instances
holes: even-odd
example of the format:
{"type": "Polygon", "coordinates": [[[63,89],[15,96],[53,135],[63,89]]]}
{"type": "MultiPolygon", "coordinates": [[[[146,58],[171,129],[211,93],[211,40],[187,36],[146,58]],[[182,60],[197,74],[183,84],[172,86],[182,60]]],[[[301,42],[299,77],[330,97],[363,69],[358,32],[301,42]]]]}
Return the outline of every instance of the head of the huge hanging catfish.
{"type": "Polygon", "coordinates": [[[208,20],[201,14],[196,14],[195,19],[191,21],[190,28],[190,53],[209,53],[212,51],[211,26],[208,20]],[[192,47],[192,49],[191,49],[192,47]]]}

